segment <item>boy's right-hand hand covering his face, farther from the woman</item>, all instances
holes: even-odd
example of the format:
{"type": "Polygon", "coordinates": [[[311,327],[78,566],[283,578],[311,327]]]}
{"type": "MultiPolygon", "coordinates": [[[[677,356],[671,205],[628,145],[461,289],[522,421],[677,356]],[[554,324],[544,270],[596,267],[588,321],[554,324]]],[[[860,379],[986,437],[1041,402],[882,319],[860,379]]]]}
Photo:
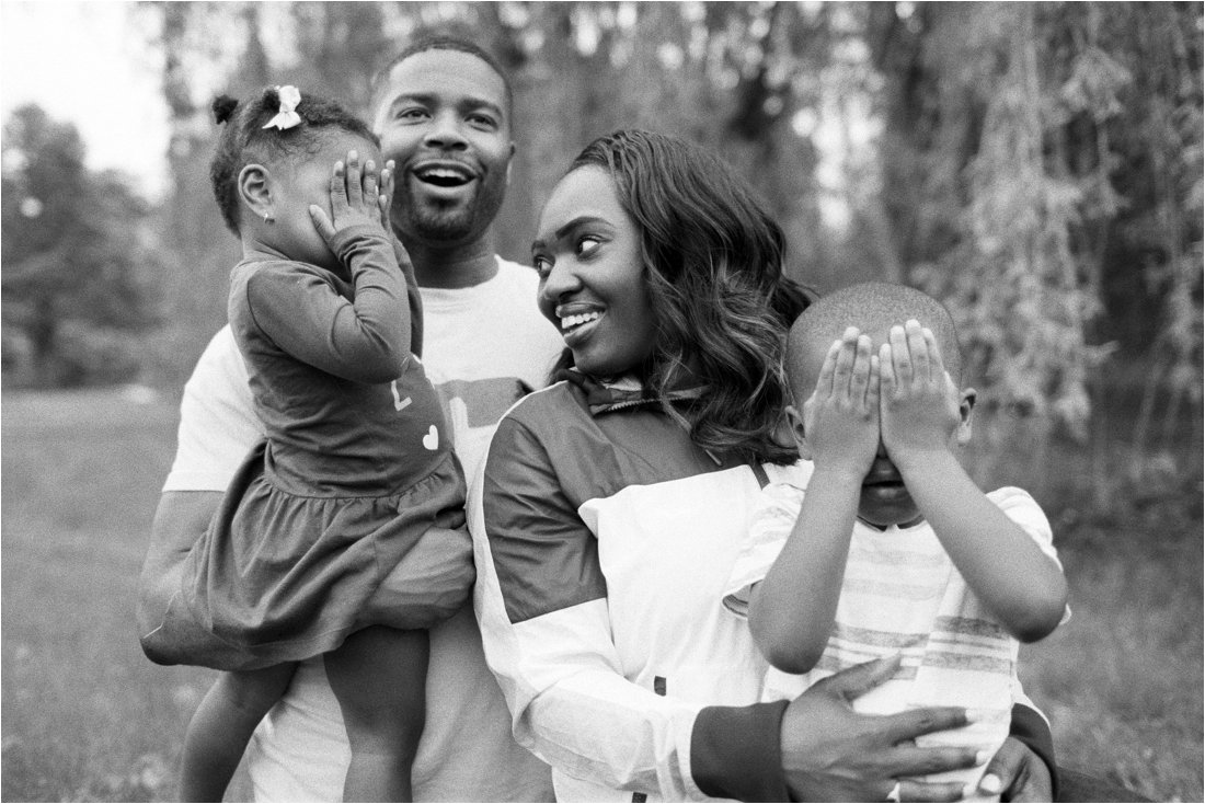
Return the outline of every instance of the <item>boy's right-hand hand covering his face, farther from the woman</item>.
{"type": "Polygon", "coordinates": [[[899,465],[918,452],[946,450],[958,427],[959,394],[933,331],[910,319],[878,348],[883,446],[899,465]]]}

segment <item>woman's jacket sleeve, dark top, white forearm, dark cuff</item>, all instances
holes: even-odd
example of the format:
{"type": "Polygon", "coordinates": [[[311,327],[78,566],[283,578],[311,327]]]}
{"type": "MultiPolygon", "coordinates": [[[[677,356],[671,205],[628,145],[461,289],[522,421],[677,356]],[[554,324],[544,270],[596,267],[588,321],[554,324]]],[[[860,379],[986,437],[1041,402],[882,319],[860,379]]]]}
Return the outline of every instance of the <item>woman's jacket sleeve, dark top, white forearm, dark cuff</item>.
{"type": "Polygon", "coordinates": [[[665,800],[787,800],[786,702],[701,706],[624,677],[595,538],[515,418],[477,473],[469,521],[486,659],[521,745],[572,779],[665,800]]]}

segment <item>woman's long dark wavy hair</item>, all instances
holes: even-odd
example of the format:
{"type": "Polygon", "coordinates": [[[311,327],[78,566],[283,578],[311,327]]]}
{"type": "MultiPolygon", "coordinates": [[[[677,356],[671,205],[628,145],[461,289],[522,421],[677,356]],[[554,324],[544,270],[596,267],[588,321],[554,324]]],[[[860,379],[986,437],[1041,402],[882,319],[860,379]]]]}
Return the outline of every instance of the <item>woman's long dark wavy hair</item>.
{"type": "Polygon", "coordinates": [[[787,329],[807,306],[782,272],[782,229],[748,186],[704,148],[664,134],[599,137],[569,171],[601,168],[640,227],[657,342],[647,393],[683,386],[704,394],[684,412],[692,440],[746,460],[792,463],[775,439],[789,391],[782,372],[787,329]]]}

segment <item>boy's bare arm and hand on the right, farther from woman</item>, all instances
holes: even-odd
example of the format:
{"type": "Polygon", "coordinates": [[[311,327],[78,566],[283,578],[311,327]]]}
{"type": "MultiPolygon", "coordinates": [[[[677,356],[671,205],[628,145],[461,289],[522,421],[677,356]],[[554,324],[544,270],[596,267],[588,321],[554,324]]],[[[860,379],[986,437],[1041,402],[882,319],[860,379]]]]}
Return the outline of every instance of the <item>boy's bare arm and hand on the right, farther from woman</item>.
{"type": "Polygon", "coordinates": [[[878,356],[883,446],[912,499],[966,585],[1016,639],[1058,626],[1066,581],[1034,540],[992,503],[950,450],[970,434],[970,400],[941,363],[936,339],[916,321],[893,327],[878,356]],[[965,421],[964,421],[965,417],[965,421]]]}

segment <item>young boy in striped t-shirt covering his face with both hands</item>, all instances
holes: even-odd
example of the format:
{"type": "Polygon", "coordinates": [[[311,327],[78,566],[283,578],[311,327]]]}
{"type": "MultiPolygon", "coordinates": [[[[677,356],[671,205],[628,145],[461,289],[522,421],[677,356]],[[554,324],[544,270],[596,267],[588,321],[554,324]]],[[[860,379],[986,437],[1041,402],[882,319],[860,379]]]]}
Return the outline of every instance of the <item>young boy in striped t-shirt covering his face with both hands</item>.
{"type": "Polygon", "coordinates": [[[856,710],[974,709],[971,726],[929,738],[982,746],[977,768],[940,779],[974,791],[1024,694],[1018,641],[1060,623],[1066,582],[1033,498],[984,494],[956,458],[975,405],[959,364],[950,313],[904,286],[846,288],[800,316],[786,412],[813,471],[806,493],[766,487],[724,603],[747,610],[772,665],[766,700],[898,653],[895,676],[856,710]]]}

